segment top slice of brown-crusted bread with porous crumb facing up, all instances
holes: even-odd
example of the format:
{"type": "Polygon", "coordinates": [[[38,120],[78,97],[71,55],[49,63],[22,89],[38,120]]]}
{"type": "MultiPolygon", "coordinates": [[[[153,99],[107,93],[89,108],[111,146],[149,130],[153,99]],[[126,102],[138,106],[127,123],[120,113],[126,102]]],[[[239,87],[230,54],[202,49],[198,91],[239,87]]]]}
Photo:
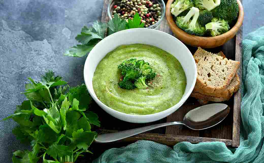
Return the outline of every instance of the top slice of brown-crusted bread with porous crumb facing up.
{"type": "Polygon", "coordinates": [[[195,92],[223,93],[237,73],[239,62],[228,60],[222,52],[213,54],[198,48],[194,54],[197,66],[195,92]]]}

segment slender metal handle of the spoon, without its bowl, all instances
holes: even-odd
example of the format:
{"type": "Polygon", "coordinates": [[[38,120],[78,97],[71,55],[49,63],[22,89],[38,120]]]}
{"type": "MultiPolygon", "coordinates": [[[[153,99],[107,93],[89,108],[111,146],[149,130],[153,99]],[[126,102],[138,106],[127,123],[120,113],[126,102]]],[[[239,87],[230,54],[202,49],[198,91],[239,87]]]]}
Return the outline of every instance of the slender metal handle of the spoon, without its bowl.
{"type": "Polygon", "coordinates": [[[169,125],[185,125],[185,124],[183,122],[168,122],[168,123],[151,125],[151,126],[146,126],[146,127],[141,127],[141,128],[131,129],[131,130],[120,131],[116,133],[101,134],[95,138],[95,142],[98,142],[98,143],[113,142],[113,141],[117,141],[117,140],[121,140],[121,139],[130,137],[130,136],[133,136],[133,135],[144,133],[149,130],[153,130],[153,129],[157,129],[157,128],[169,126],[169,125]]]}

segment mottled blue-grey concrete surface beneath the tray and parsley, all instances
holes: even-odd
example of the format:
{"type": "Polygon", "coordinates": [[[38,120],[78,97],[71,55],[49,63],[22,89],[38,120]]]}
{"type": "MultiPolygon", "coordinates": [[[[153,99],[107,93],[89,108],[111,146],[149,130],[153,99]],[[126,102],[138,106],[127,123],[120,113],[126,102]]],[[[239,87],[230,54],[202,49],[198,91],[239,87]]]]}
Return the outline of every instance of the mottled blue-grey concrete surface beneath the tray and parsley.
{"type": "MultiPolygon", "coordinates": [[[[103,0],[0,0],[0,119],[12,114],[25,97],[27,77],[39,79],[52,69],[69,85],[84,83],[86,57],[63,56],[77,44],[81,28],[101,19],[103,0]]],[[[243,34],[264,25],[263,1],[244,0],[243,34]]],[[[12,120],[0,121],[0,162],[28,149],[16,140],[12,120]]]]}

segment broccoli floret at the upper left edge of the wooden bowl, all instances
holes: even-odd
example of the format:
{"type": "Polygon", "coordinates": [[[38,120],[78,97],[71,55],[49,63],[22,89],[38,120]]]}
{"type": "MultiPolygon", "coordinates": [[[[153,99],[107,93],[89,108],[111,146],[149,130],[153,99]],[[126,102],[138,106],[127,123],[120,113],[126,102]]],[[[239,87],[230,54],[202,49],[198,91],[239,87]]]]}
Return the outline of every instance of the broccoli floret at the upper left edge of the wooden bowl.
{"type": "Polygon", "coordinates": [[[171,13],[177,17],[180,13],[193,6],[192,0],[176,0],[171,4],[171,13]]]}

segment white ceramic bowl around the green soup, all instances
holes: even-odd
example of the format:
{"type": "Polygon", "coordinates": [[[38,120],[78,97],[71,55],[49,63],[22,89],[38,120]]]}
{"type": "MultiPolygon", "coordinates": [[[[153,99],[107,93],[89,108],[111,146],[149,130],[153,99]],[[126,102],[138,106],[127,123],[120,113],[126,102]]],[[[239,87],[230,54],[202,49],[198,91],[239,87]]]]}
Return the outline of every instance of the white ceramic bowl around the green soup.
{"type": "Polygon", "coordinates": [[[180,108],[180,106],[187,100],[192,90],[194,89],[197,77],[197,69],[195,60],[192,57],[190,50],[177,38],[168,33],[155,29],[135,28],[122,30],[120,32],[111,34],[110,36],[107,36],[106,38],[101,40],[89,53],[84,64],[83,74],[84,81],[90,95],[103,110],[105,110],[115,118],[123,121],[132,123],[148,123],[160,120],[180,108]],[[161,48],[171,53],[181,63],[186,75],[187,85],[182,99],[176,105],[155,114],[131,115],[111,109],[110,107],[103,104],[100,100],[98,100],[95,91],[93,90],[92,84],[93,74],[98,63],[105,57],[107,53],[111,52],[118,46],[135,43],[149,44],[161,48]]]}

